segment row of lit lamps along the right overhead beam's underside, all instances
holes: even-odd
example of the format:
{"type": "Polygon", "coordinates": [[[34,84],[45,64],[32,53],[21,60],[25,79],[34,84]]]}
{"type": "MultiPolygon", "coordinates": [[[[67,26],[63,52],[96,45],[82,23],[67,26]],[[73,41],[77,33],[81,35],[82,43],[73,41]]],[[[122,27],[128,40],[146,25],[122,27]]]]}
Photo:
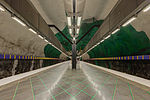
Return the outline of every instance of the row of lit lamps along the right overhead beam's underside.
{"type": "MultiPolygon", "coordinates": [[[[147,12],[147,11],[149,11],[150,10],[150,4],[148,5],[148,6],[146,6],[142,11],[143,12],[147,12]]],[[[137,17],[132,17],[132,18],[130,18],[127,22],[125,22],[123,25],[122,25],[122,27],[125,27],[125,26],[127,26],[127,25],[129,25],[131,22],[133,22],[135,19],[137,19],[137,17]]],[[[111,34],[115,34],[115,33],[117,33],[118,31],[120,31],[120,28],[117,28],[117,29],[115,29],[111,34]]],[[[111,36],[111,34],[110,35],[108,35],[107,37],[105,37],[103,40],[101,40],[99,43],[97,43],[95,46],[93,46],[91,49],[89,49],[87,52],[89,52],[90,50],[92,50],[93,48],[95,48],[96,46],[98,46],[99,44],[101,44],[102,42],[104,42],[106,39],[108,39],[110,36],[111,36]]],[[[87,52],[85,52],[84,54],[86,54],[87,52]]],[[[83,55],[84,55],[83,54],[83,55]]],[[[82,55],[82,56],[83,56],[82,55]]],[[[80,56],[80,57],[82,57],[82,56],[80,56]]]]}

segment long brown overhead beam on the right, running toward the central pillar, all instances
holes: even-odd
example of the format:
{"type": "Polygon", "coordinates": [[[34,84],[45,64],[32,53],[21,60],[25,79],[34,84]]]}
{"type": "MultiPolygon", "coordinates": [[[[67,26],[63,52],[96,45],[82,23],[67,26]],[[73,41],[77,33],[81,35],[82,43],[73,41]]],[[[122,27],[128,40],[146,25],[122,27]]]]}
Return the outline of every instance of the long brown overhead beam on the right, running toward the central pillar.
{"type": "Polygon", "coordinates": [[[150,0],[119,0],[105,18],[99,30],[88,42],[81,55],[85,54],[94,45],[103,40],[107,35],[111,34],[112,31],[124,24],[129,18],[138,14],[149,3],[150,0]]]}

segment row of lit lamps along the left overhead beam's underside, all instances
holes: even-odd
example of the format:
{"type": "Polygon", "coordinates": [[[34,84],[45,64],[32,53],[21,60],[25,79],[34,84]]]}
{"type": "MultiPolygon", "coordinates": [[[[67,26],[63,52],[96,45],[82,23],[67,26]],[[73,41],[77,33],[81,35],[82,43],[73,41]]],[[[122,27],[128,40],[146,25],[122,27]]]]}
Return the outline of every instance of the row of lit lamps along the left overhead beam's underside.
{"type": "MultiPolygon", "coordinates": [[[[5,12],[5,8],[3,6],[0,5],[0,11],[1,12],[5,12]]],[[[19,24],[21,24],[22,26],[27,26],[20,18],[18,18],[15,15],[11,16],[12,19],[14,19],[16,22],[18,22],[19,24]]],[[[61,53],[63,53],[60,49],[58,49],[56,46],[54,46],[53,44],[51,44],[48,40],[46,40],[43,36],[41,36],[40,34],[38,34],[37,31],[35,31],[34,29],[32,29],[31,27],[28,28],[29,31],[31,31],[32,33],[38,35],[39,38],[43,39],[45,42],[49,43],[50,45],[52,45],[54,48],[56,48],[57,50],[59,50],[61,53]]],[[[65,53],[63,53],[64,55],[66,55],[65,53]]],[[[68,55],[66,55],[68,57],[68,55]]]]}

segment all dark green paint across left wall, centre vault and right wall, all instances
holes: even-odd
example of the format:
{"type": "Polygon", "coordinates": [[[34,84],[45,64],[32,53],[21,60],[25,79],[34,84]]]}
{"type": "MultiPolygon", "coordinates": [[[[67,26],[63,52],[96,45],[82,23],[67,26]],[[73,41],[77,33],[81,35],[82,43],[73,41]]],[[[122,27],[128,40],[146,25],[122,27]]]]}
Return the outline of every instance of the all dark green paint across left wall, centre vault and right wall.
{"type": "MultiPolygon", "coordinates": [[[[83,23],[80,29],[79,38],[82,37],[93,25],[101,25],[102,20],[93,23],[83,23]]],[[[94,28],[78,45],[77,50],[83,50],[98,28],[94,28]]],[[[63,33],[71,40],[71,36],[66,26],[63,33]]],[[[62,43],[67,51],[71,51],[71,44],[60,34],[56,37],[62,43]]],[[[51,45],[46,45],[44,49],[46,57],[59,57],[60,52],[51,45]]],[[[88,52],[90,58],[128,56],[128,55],[144,55],[150,53],[150,40],[145,32],[138,32],[132,25],[121,27],[116,34],[101,43],[99,46],[88,52]]]]}

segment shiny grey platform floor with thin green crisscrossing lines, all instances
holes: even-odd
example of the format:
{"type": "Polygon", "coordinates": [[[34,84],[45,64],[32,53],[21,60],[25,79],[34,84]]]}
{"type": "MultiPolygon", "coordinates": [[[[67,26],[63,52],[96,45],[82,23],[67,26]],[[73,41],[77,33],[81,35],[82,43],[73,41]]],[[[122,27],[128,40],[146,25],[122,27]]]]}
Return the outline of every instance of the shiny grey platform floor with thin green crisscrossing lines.
{"type": "Polygon", "coordinates": [[[0,100],[150,100],[142,90],[88,64],[70,62],[0,88],[0,100]],[[79,68],[80,67],[80,68],[79,68]]]}

